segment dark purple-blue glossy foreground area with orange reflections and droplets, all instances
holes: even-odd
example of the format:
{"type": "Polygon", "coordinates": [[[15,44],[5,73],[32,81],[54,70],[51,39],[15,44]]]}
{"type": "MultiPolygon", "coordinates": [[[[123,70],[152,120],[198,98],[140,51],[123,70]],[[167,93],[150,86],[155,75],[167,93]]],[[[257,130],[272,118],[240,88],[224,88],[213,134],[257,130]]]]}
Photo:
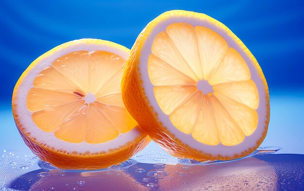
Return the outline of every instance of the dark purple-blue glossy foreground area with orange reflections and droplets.
{"type": "Polygon", "coordinates": [[[211,164],[151,164],[130,159],[100,171],[42,169],[11,181],[17,190],[302,190],[304,155],[262,154],[211,164]]]}

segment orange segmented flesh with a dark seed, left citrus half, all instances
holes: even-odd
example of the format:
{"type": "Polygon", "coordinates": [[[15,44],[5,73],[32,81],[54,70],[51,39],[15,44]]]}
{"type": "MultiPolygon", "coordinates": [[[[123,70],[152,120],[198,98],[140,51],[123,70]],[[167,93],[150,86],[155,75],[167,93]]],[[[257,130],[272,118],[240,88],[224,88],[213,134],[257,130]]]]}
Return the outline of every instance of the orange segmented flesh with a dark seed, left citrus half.
{"type": "Polygon", "coordinates": [[[27,107],[43,131],[67,142],[102,143],[136,126],[120,92],[125,60],[103,51],[71,52],[34,79],[27,107]]]}

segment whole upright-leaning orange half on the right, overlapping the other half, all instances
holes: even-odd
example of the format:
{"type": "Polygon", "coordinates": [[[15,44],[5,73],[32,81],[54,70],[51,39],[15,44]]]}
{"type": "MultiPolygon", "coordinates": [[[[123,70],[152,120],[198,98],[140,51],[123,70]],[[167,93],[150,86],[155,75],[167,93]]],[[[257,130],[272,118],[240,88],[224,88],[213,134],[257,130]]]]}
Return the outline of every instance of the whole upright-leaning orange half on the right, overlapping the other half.
{"type": "Polygon", "coordinates": [[[253,54],[225,25],[174,10],[137,37],[122,99],[148,135],[173,156],[233,159],[266,136],[269,91],[253,54]]]}

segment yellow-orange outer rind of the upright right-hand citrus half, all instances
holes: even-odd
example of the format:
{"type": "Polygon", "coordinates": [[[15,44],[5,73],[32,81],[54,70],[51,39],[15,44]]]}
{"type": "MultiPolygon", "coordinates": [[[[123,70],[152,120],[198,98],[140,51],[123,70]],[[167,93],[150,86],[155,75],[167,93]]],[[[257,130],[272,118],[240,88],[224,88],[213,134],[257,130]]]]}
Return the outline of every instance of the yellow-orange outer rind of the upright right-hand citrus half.
{"type": "MultiPolygon", "coordinates": [[[[190,11],[183,10],[173,10],[168,11],[160,16],[153,19],[138,35],[135,44],[133,45],[129,57],[126,61],[126,66],[124,69],[122,83],[121,83],[121,92],[123,102],[132,115],[132,117],[138,122],[141,128],[143,128],[148,135],[157,142],[163,149],[169,152],[172,156],[177,157],[187,157],[193,158],[199,161],[203,160],[229,160],[240,158],[243,156],[247,156],[252,153],[265,139],[268,124],[270,120],[270,105],[269,105],[269,90],[268,85],[265,79],[265,76],[262,72],[261,67],[259,66],[257,60],[254,58],[253,54],[248,50],[248,48],[244,45],[244,43],[224,24],[220,21],[209,17],[207,15],[201,13],[195,13],[190,11]],[[202,151],[198,151],[189,145],[183,143],[183,141],[176,139],[170,132],[167,127],[164,126],[160,120],[158,119],[158,114],[155,112],[154,108],[150,104],[146,94],[145,89],[143,87],[143,80],[141,76],[141,72],[139,69],[139,58],[140,51],[143,48],[145,41],[150,36],[150,33],[153,29],[158,25],[158,23],[170,18],[170,17],[189,17],[196,18],[200,20],[207,20],[210,23],[213,23],[218,28],[223,29],[227,35],[229,35],[237,45],[244,51],[244,53],[251,59],[255,68],[257,69],[260,78],[262,79],[265,86],[265,94],[266,94],[266,102],[267,104],[267,115],[265,120],[264,132],[260,139],[256,141],[256,145],[252,148],[247,148],[242,152],[235,154],[234,156],[224,156],[217,155],[213,156],[209,153],[204,153],[202,151]]],[[[199,144],[199,143],[198,143],[199,144]]]]}

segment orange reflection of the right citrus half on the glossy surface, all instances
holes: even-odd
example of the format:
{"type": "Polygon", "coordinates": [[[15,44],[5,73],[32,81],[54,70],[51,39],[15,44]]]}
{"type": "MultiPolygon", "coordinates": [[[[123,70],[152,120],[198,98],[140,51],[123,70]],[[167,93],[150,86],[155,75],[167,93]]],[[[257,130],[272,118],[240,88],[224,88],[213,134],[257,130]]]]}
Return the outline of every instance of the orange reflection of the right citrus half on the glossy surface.
{"type": "Polygon", "coordinates": [[[277,190],[277,174],[264,160],[248,157],[210,165],[166,166],[172,180],[160,180],[164,190],[277,190]]]}

